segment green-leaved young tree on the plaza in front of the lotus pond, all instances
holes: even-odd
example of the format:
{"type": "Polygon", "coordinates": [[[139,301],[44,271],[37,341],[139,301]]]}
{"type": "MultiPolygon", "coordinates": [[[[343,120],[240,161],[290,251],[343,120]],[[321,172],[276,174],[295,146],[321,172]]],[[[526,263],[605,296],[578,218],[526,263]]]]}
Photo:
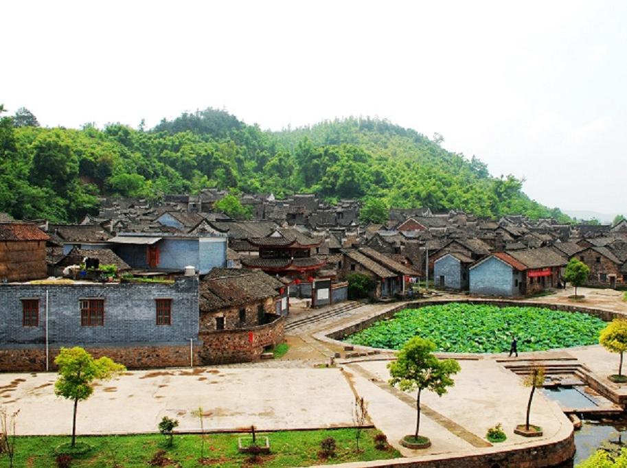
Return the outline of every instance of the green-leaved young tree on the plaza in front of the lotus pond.
{"type": "Polygon", "coordinates": [[[451,375],[461,368],[453,359],[439,360],[433,355],[435,343],[419,336],[411,338],[398,352],[396,361],[387,365],[391,379],[389,384],[407,392],[418,389],[416,396],[416,427],[414,440],[418,441],[420,432],[420,394],[422,390],[431,390],[439,397],[455,382],[451,375]]]}

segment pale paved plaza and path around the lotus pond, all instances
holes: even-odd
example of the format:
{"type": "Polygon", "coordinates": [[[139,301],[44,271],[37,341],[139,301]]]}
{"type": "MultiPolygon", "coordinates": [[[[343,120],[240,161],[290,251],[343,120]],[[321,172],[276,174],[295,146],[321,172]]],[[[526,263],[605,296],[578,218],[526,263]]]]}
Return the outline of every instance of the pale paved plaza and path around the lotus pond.
{"type": "MultiPolygon", "coordinates": [[[[586,294],[594,297],[595,294],[586,294]]],[[[563,295],[562,295],[563,296],[563,295]]],[[[597,294],[608,309],[627,312],[616,294],[597,294]],[[622,308],[622,309],[621,309],[622,308]]],[[[446,299],[449,299],[448,296],[446,299]]],[[[451,298],[452,299],[452,298],[451,298]]],[[[566,301],[560,296],[541,298],[566,301]]],[[[497,452],[508,447],[543,445],[561,440],[572,423],[557,403],[536,393],[531,422],[540,425],[540,438],[514,434],[524,423],[529,388],[505,365],[505,355],[476,355],[460,359],[455,386],[442,397],[422,393],[421,434],[429,436],[429,449],[415,451],[398,441],[415,428],[415,393],[402,393],[387,384],[391,353],[338,360],[336,368],[315,368],[330,362],[341,346],[316,339],[320,332],[359,317],[378,314],[393,305],[363,305],[320,323],[295,327],[287,337],[290,351],[282,360],[207,368],[130,371],[99,384],[93,396],[78,406],[79,434],[156,432],[163,416],[179,419],[179,430],[200,430],[194,410],[203,408],[206,430],[240,430],[254,424],[260,430],[333,428],[353,425],[355,395],[367,402],[371,422],[387,434],[404,456],[497,452]],[[507,441],[492,445],[488,428],[501,423],[507,441]]],[[[582,304],[601,307],[599,304],[582,304]]],[[[600,346],[546,353],[520,353],[518,361],[576,360],[604,379],[615,373],[618,355],[600,346]]],[[[8,410],[21,410],[20,434],[67,434],[71,430],[70,401],[54,395],[56,373],[0,375],[0,398],[8,410]]],[[[614,386],[627,393],[627,386],[614,386]]],[[[566,435],[565,435],[566,434],[566,435]]]]}

